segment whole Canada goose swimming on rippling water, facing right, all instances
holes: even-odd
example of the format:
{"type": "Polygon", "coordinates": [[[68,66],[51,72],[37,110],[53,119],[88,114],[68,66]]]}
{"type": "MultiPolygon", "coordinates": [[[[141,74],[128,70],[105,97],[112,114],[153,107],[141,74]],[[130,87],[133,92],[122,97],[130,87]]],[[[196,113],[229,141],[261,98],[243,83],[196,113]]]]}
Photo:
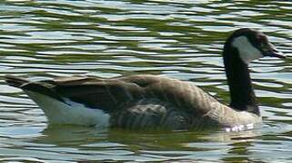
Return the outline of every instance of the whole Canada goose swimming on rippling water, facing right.
{"type": "Polygon", "coordinates": [[[263,56],[285,57],[261,32],[243,28],[229,36],[223,51],[229,106],[192,82],[158,75],[67,77],[41,82],[6,76],[5,81],[25,91],[51,124],[242,130],[261,123],[247,64],[263,56]]]}

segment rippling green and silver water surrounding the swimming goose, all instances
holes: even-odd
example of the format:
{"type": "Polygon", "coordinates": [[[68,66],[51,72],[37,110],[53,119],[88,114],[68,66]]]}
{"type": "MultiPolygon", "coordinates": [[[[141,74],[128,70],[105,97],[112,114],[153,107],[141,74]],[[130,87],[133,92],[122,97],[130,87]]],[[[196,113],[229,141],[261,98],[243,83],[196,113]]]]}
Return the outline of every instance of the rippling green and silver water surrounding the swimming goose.
{"type": "Polygon", "coordinates": [[[239,133],[47,127],[6,74],[53,78],[152,73],[196,82],[228,102],[221,58],[235,29],[292,55],[289,1],[0,1],[0,161],[292,160],[292,60],[253,62],[264,125],[239,133]]]}

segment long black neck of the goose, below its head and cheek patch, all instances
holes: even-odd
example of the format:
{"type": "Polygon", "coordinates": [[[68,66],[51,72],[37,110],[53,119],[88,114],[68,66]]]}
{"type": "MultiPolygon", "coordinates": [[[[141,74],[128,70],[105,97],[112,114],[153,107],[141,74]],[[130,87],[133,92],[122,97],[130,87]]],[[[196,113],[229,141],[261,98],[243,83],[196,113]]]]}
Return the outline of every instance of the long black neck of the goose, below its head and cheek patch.
{"type": "Polygon", "coordinates": [[[223,52],[231,97],[230,107],[259,114],[247,64],[239,58],[237,49],[231,46],[231,41],[232,38],[227,40],[223,52]]]}

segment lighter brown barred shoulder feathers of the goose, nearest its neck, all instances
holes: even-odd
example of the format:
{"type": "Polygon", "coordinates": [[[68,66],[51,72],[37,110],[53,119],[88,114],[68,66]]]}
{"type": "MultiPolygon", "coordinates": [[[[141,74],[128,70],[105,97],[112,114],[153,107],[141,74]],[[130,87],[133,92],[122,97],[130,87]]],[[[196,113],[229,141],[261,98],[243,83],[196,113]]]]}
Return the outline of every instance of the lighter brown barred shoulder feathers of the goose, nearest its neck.
{"type": "Polygon", "coordinates": [[[195,115],[205,115],[218,104],[212,96],[196,87],[193,82],[183,82],[166,77],[146,87],[146,94],[160,101],[166,101],[180,110],[195,115]]]}

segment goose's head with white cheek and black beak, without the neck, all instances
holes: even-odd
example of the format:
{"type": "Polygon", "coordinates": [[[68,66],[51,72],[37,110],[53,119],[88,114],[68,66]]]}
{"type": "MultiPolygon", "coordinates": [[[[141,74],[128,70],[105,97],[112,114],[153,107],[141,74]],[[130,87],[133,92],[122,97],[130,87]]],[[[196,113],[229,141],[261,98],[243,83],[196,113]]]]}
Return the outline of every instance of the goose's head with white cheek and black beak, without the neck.
{"type": "Polygon", "coordinates": [[[246,64],[265,56],[285,58],[283,53],[269,43],[266,34],[249,28],[242,28],[231,34],[227,39],[226,51],[227,48],[233,49],[232,54],[238,54],[239,59],[246,64]]]}

